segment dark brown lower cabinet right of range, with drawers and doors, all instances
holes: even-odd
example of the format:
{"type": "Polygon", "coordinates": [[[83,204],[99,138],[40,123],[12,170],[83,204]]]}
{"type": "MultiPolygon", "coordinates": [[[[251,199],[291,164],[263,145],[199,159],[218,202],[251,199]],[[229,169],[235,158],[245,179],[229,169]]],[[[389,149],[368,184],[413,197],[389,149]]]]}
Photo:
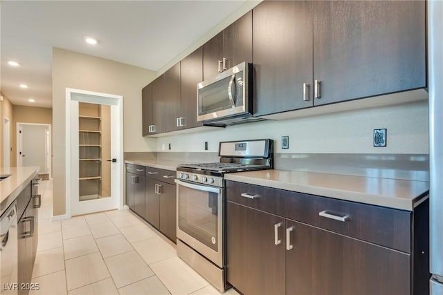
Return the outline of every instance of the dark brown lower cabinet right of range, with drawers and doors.
{"type": "Polygon", "coordinates": [[[242,294],[428,294],[427,200],[402,211],[232,181],[226,199],[226,276],[242,294]],[[394,221],[380,224],[386,210],[394,221]],[[383,238],[392,229],[410,233],[405,251],[383,238]]]}

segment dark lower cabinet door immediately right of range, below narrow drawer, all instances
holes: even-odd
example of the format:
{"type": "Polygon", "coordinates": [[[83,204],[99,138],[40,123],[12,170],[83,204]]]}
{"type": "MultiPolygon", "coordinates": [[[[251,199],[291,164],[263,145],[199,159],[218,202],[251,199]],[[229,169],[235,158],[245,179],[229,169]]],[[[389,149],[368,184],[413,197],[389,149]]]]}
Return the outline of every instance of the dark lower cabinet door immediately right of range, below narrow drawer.
{"type": "Polygon", "coordinates": [[[284,294],[284,251],[284,218],[227,202],[229,283],[243,294],[284,294]],[[281,242],[275,245],[274,226],[279,223],[281,242]]]}

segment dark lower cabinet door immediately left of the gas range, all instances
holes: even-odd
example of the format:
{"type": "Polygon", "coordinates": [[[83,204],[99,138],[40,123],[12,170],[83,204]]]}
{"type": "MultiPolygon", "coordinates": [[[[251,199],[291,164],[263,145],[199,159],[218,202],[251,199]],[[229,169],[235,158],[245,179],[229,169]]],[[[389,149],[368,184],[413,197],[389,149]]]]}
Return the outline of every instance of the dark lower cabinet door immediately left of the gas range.
{"type": "Polygon", "coordinates": [[[175,185],[158,182],[159,207],[160,207],[160,231],[173,242],[177,241],[177,198],[175,185]]]}

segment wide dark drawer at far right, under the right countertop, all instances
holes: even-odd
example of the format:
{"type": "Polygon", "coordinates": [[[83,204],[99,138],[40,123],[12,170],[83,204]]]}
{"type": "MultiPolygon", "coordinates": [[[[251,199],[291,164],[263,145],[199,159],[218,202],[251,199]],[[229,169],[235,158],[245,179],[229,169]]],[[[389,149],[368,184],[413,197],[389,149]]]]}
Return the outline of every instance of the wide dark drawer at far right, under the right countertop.
{"type": "Polygon", "coordinates": [[[285,204],[292,220],[410,253],[409,211],[303,193],[291,193],[285,204]]]}

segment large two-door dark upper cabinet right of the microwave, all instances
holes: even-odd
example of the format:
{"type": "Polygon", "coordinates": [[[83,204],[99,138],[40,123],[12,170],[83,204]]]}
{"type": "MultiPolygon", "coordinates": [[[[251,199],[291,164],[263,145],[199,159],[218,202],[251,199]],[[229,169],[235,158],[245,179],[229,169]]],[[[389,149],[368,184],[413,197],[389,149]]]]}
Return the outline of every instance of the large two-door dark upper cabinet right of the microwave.
{"type": "Polygon", "coordinates": [[[425,1],[264,1],[253,9],[255,113],[426,87],[425,1]]]}

